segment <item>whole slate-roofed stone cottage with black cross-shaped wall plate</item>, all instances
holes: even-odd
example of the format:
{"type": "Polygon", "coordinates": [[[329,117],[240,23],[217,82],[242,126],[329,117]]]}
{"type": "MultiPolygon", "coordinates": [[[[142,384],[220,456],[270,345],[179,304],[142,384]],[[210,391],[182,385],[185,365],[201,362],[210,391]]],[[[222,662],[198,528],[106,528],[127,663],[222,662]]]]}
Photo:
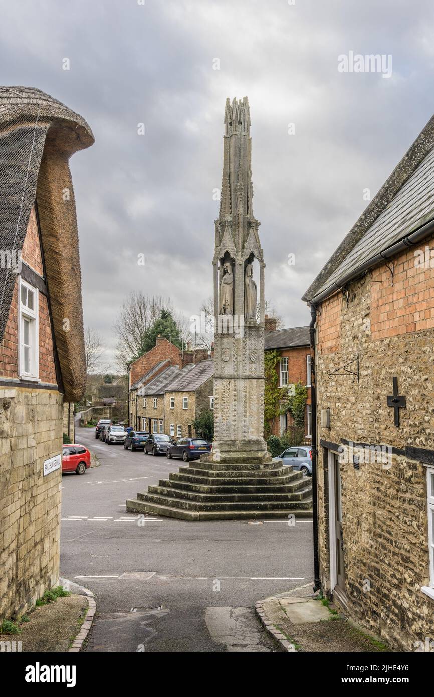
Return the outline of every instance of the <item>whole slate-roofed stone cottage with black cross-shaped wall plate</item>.
{"type": "Polygon", "coordinates": [[[320,581],[408,651],[434,637],[433,179],[434,118],[304,296],[320,581]]]}

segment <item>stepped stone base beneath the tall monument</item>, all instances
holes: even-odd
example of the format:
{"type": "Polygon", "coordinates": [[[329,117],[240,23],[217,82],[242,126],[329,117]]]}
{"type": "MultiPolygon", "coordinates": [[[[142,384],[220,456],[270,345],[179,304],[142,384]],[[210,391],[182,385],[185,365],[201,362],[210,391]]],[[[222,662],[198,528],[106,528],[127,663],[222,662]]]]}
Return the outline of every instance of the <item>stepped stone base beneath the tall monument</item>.
{"type": "Polygon", "coordinates": [[[269,462],[253,460],[242,461],[240,453],[237,461],[203,456],[180,467],[169,480],[160,480],[158,487],[127,500],[127,512],[187,521],[311,516],[310,479],[271,457],[269,462]]]}

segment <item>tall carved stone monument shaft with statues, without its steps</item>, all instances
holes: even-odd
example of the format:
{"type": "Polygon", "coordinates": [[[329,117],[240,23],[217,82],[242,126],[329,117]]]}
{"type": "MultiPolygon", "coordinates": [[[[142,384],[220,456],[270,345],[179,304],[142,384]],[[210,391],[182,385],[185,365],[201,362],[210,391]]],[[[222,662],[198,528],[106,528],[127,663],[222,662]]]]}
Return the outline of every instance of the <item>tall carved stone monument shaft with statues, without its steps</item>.
{"type": "Polygon", "coordinates": [[[224,126],[222,194],[212,261],[215,434],[208,459],[265,462],[270,461],[263,440],[265,263],[260,223],[253,213],[247,97],[226,100],[224,126]]]}

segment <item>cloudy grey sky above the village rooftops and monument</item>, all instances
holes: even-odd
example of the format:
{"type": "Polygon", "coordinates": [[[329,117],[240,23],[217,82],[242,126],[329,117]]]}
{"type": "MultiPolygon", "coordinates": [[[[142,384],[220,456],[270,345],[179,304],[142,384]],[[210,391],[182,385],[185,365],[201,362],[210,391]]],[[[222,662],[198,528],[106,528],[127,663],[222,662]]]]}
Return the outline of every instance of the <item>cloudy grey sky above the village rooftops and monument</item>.
{"type": "Polygon", "coordinates": [[[433,115],[431,0],[292,2],[0,0],[3,84],[95,135],[71,169],[84,323],[107,362],[130,291],[187,317],[212,293],[226,97],[249,97],[265,296],[287,327],[309,323],[302,294],[433,115]],[[339,72],[350,51],[392,56],[392,76],[339,72]]]}

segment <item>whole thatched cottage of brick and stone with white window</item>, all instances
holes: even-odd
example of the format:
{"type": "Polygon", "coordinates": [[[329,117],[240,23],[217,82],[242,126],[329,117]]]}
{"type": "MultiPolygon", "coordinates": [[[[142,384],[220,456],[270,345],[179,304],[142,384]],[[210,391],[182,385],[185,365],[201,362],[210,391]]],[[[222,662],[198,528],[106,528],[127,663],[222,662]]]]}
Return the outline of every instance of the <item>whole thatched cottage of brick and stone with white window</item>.
{"type": "Polygon", "coordinates": [[[59,579],[63,401],[86,381],[68,160],[91,144],[61,102],[0,88],[0,618],[59,579]]]}

